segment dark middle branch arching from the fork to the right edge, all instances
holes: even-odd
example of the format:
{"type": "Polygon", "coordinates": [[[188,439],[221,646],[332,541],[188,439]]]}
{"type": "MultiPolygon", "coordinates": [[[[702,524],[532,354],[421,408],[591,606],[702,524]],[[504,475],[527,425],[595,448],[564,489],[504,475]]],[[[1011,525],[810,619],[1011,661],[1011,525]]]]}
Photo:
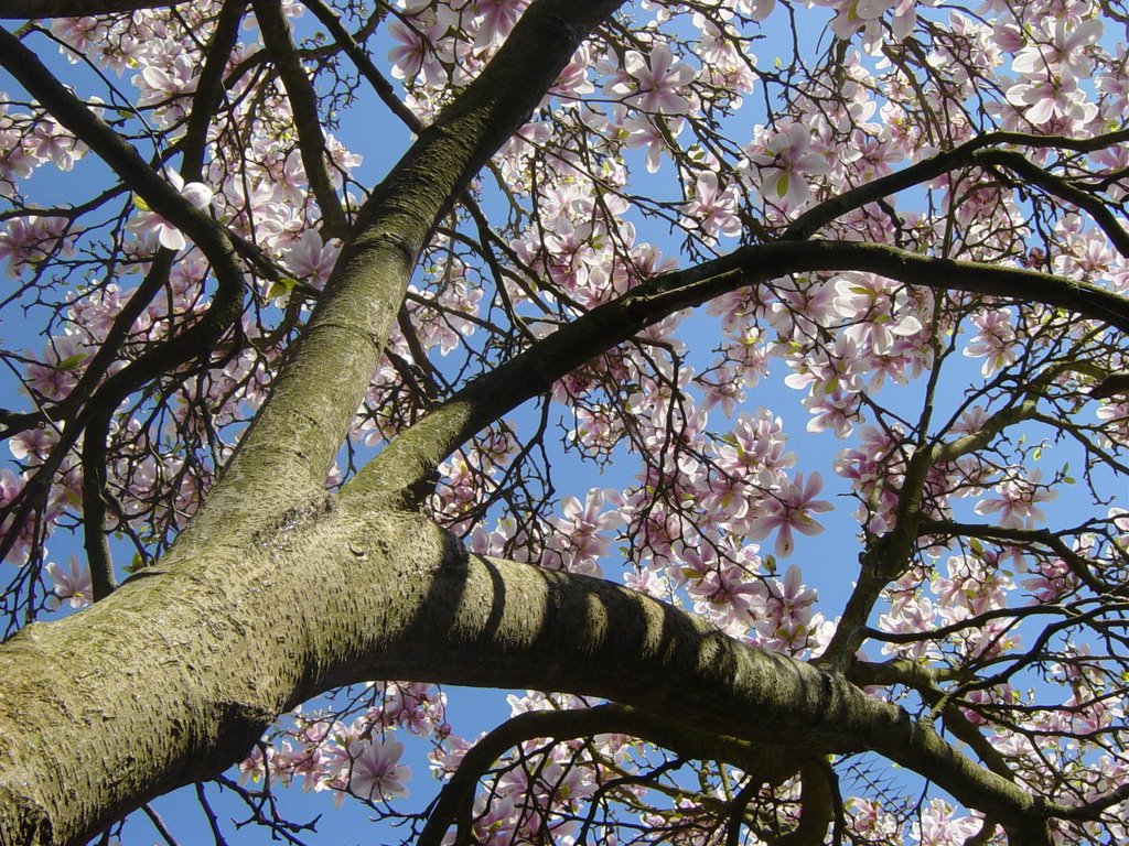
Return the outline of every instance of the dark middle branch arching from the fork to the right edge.
{"type": "Polygon", "coordinates": [[[645,282],[470,382],[393,441],[351,486],[357,495],[378,500],[396,495],[491,421],[644,327],[737,288],[815,271],[865,271],[938,291],[1044,302],[1129,332],[1129,298],[1064,276],[933,258],[874,244],[815,240],[743,247],[645,282]]]}

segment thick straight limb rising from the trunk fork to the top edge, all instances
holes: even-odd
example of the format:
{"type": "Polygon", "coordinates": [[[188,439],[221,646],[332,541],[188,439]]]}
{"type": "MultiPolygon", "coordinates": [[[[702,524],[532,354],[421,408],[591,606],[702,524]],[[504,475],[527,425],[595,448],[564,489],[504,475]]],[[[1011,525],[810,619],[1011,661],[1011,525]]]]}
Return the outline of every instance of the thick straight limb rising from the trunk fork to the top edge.
{"type": "Polygon", "coordinates": [[[210,502],[245,509],[221,487],[254,476],[263,490],[287,479],[280,495],[290,502],[321,490],[434,227],[620,2],[536,0],[487,68],[421,132],[360,209],[295,358],[210,502]]]}

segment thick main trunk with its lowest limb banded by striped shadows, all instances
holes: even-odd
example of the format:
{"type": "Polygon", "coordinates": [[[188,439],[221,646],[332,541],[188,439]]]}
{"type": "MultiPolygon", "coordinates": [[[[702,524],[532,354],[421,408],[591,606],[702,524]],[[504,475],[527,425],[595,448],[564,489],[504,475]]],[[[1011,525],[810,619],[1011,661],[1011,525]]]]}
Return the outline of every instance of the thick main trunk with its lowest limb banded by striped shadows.
{"type": "Polygon", "coordinates": [[[869,749],[1047,841],[1041,800],[842,676],[610,582],[454,556],[418,514],[342,504],[274,527],[234,517],[208,537],[183,535],[143,573],[0,650],[15,686],[0,695],[3,846],[80,841],[229,766],[275,714],[374,678],[562,690],[793,750],[869,749]],[[60,673],[77,678],[61,686],[60,673]],[[85,720],[99,731],[76,732],[85,720]],[[36,726],[34,743],[21,725],[36,726]]]}

